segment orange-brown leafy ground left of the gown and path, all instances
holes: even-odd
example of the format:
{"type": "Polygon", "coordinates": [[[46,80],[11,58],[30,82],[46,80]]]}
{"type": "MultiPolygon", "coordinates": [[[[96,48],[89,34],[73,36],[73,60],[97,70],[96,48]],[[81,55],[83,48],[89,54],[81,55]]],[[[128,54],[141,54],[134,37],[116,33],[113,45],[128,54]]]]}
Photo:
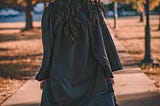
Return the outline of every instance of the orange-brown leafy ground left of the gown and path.
{"type": "Polygon", "coordinates": [[[24,23],[0,24],[0,104],[37,72],[42,58],[40,23],[20,32],[24,23]]]}

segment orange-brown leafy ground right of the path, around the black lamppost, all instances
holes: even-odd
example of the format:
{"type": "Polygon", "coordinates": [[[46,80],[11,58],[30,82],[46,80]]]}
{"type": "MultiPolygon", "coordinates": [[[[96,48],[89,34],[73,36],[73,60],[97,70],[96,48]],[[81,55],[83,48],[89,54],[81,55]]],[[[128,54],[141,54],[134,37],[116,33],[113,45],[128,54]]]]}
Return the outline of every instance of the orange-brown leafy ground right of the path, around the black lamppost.
{"type": "MultiPolygon", "coordinates": [[[[145,21],[139,22],[139,17],[119,18],[117,29],[114,29],[116,37],[125,46],[134,63],[140,65],[144,58],[145,21]]],[[[160,90],[160,31],[158,29],[158,16],[150,17],[151,30],[151,55],[156,61],[154,65],[142,65],[141,68],[160,90]]],[[[108,24],[113,27],[113,20],[108,19],[108,24]]]]}

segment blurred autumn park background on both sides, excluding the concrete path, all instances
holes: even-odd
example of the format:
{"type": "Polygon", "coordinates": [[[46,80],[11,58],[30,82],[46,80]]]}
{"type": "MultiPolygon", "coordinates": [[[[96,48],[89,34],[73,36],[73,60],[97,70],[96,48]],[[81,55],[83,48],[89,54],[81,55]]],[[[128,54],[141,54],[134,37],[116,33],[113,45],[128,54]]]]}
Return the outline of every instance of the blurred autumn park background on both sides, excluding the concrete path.
{"type": "MultiPolygon", "coordinates": [[[[34,78],[41,65],[41,17],[46,0],[0,0],[0,104],[34,78]]],[[[160,0],[105,5],[107,25],[160,88],[160,0]],[[148,4],[147,4],[148,3],[148,4]]]]}

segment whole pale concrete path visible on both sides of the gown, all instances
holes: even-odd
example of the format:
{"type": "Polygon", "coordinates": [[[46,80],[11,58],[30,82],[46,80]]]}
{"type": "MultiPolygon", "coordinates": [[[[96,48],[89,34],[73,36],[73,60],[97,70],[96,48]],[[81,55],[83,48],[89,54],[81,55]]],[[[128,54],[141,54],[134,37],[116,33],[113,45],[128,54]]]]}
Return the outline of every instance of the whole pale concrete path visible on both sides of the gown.
{"type": "MultiPolygon", "coordinates": [[[[115,41],[121,62],[122,71],[115,75],[115,93],[120,106],[160,106],[160,94],[141,69],[132,63],[124,46],[115,41]]],[[[27,81],[12,97],[2,106],[38,106],[41,98],[39,83],[34,79],[27,81]]]]}

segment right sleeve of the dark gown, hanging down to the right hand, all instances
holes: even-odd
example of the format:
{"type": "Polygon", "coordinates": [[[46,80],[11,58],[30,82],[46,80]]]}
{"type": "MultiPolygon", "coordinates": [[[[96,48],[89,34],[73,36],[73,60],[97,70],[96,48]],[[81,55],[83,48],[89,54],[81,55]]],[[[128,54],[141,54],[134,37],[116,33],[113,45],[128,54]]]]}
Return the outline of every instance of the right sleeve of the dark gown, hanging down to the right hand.
{"type": "Polygon", "coordinates": [[[108,56],[105,50],[104,39],[101,31],[101,27],[99,24],[98,15],[91,25],[92,34],[91,34],[91,48],[92,53],[95,59],[102,65],[106,78],[113,78],[113,74],[111,71],[111,66],[108,60],[108,56]]]}

